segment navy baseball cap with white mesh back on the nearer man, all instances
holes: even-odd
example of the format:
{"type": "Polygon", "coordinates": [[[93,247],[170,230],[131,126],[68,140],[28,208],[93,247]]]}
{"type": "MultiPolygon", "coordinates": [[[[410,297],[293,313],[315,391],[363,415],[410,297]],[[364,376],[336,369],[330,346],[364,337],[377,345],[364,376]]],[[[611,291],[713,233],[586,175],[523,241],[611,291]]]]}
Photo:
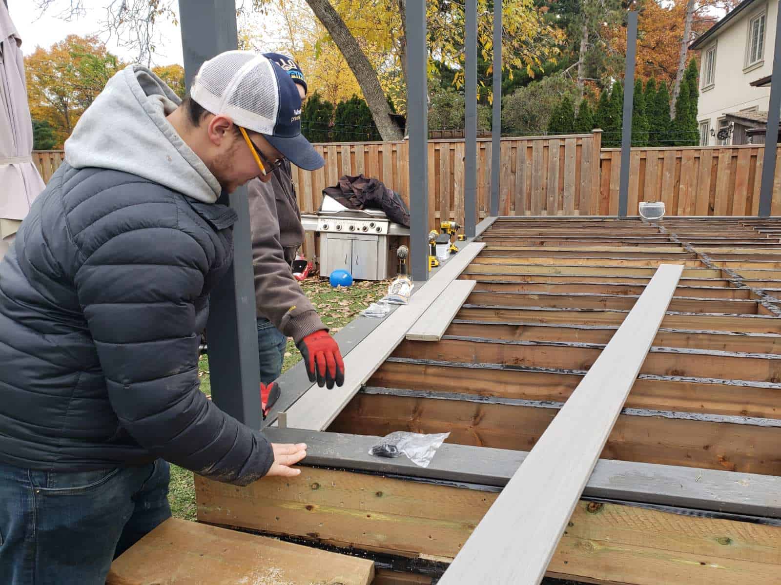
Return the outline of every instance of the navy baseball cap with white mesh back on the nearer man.
{"type": "Polygon", "coordinates": [[[294,80],[271,59],[252,51],[226,51],[201,65],[192,99],[212,114],[263,135],[284,158],[307,171],[325,165],[301,134],[301,96],[294,80]]]}

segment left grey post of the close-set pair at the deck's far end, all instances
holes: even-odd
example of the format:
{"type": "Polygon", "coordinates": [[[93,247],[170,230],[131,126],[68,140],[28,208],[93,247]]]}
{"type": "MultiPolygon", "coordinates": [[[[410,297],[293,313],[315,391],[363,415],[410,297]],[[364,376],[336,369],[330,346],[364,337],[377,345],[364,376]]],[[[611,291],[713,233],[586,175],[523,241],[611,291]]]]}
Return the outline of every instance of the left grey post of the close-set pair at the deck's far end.
{"type": "Polygon", "coordinates": [[[477,0],[466,0],[464,73],[464,232],[473,238],[477,224],[477,0]]]}

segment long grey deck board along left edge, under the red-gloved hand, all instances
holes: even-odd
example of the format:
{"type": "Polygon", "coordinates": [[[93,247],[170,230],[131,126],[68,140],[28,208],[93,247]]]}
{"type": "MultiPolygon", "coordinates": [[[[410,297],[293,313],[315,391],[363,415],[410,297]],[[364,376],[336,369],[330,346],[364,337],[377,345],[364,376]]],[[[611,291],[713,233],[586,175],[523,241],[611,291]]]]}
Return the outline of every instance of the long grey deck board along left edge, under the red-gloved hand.
{"type": "Polygon", "coordinates": [[[448,285],[483,250],[484,243],[469,243],[451,257],[436,275],[412,295],[409,304],[399,307],[366,336],[360,346],[344,358],[344,385],[339,388],[319,388],[312,385],[308,392],[287,410],[287,426],[323,431],[345,404],[358,392],[380,363],[404,339],[412,324],[440,296],[448,285]]]}

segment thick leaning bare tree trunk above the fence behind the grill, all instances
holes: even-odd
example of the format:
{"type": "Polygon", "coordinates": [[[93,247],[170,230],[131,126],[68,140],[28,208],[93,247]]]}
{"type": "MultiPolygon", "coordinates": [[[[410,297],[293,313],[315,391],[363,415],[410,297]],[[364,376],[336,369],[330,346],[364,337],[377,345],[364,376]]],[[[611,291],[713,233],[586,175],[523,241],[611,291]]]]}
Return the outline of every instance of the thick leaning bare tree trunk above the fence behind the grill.
{"type": "Polygon", "coordinates": [[[344,55],[344,60],[358,80],[363,96],[366,97],[366,104],[372,112],[372,118],[380,130],[380,136],[383,140],[401,140],[401,130],[391,119],[391,108],[388,107],[387,99],[383,88],[380,87],[380,80],[377,79],[369,59],[366,58],[355,37],[352,36],[348,27],[341,20],[336,10],[330,5],[328,0],[306,0],[309,8],[315,13],[317,20],[323,23],[328,33],[337,44],[339,51],[344,55]]]}

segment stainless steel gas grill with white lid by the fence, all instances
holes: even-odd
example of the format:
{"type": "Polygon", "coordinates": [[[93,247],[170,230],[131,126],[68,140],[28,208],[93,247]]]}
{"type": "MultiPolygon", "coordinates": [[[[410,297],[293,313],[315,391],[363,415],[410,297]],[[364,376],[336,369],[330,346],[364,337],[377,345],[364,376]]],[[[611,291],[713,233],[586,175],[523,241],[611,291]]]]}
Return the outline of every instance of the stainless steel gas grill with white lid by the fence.
{"type": "Polygon", "coordinates": [[[351,210],[327,195],[316,215],[302,215],[304,229],[320,234],[320,276],[348,271],[359,280],[384,280],[398,267],[400,236],[409,229],[379,209],[351,210]]]}

